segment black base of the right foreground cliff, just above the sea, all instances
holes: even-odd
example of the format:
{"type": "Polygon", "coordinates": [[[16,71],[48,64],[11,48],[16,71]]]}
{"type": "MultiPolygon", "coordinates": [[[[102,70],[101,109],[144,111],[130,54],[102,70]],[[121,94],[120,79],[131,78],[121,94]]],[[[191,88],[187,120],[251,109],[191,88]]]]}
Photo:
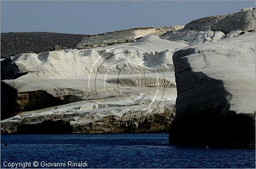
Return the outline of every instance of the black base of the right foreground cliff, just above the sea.
{"type": "Polygon", "coordinates": [[[215,119],[186,116],[175,119],[169,142],[209,148],[255,148],[255,116],[233,114],[215,119]]]}

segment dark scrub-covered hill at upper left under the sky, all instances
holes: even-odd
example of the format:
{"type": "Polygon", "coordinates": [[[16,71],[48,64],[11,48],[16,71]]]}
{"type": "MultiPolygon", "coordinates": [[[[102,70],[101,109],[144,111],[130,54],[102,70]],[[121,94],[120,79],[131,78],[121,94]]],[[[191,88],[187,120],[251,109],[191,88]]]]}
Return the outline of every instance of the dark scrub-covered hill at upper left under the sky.
{"type": "Polygon", "coordinates": [[[47,32],[1,33],[1,58],[21,53],[52,51],[55,45],[61,48],[73,48],[85,36],[47,32]]]}

